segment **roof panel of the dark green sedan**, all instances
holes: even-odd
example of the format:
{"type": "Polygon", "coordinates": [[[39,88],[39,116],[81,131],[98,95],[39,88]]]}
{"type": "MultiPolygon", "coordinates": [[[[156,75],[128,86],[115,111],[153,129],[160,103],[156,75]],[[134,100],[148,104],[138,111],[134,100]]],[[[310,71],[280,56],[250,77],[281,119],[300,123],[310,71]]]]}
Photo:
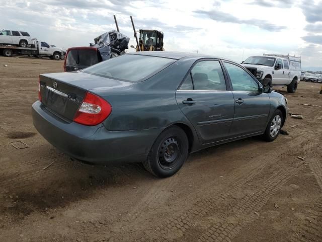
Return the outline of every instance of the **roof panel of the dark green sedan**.
{"type": "MultiPolygon", "coordinates": [[[[226,59],[226,58],[221,58],[218,56],[189,53],[189,52],[176,52],[176,51],[142,51],[142,52],[138,51],[138,52],[130,52],[128,54],[149,55],[149,56],[172,58],[172,59],[182,59],[184,57],[226,59]]],[[[229,61],[229,60],[227,59],[227,61],[229,61]]]]}

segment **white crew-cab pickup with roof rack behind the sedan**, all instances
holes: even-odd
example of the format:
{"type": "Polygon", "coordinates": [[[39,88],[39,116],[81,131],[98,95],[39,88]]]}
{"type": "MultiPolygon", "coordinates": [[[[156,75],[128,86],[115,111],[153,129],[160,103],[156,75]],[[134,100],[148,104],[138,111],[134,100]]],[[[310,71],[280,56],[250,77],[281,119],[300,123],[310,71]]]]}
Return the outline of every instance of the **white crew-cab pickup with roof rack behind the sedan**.
{"type": "Polygon", "coordinates": [[[282,54],[250,56],[242,62],[262,84],[287,86],[294,93],[301,78],[301,57],[282,54]]]}

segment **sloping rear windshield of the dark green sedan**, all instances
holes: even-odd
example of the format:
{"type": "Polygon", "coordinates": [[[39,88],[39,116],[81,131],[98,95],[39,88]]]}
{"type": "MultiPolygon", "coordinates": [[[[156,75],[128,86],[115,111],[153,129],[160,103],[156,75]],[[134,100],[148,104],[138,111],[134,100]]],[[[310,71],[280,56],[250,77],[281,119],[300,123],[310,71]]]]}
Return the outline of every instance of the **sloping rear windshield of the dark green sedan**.
{"type": "Polygon", "coordinates": [[[176,59],[163,57],[125,54],[108,59],[82,71],[101,77],[139,82],[165,69],[175,61],[176,59]]]}

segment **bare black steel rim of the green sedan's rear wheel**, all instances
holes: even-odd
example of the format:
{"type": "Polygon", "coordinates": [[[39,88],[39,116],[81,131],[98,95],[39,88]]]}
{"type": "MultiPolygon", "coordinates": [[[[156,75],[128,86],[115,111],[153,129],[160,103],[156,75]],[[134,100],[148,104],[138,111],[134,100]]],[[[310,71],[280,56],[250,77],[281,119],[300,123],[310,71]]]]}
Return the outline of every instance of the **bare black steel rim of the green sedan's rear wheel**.
{"type": "Polygon", "coordinates": [[[172,169],[180,156],[180,147],[174,137],[166,139],[158,149],[158,162],[162,168],[172,169]]]}

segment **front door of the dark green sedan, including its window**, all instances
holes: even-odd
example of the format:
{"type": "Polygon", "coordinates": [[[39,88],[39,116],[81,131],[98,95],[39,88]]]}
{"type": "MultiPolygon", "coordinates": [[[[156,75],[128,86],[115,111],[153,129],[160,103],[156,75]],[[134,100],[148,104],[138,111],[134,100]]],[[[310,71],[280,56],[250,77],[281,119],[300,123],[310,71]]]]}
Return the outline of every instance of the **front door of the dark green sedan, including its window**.
{"type": "Polygon", "coordinates": [[[243,68],[224,62],[235,100],[230,134],[239,137],[264,132],[270,112],[269,94],[259,91],[259,83],[243,68]]]}

